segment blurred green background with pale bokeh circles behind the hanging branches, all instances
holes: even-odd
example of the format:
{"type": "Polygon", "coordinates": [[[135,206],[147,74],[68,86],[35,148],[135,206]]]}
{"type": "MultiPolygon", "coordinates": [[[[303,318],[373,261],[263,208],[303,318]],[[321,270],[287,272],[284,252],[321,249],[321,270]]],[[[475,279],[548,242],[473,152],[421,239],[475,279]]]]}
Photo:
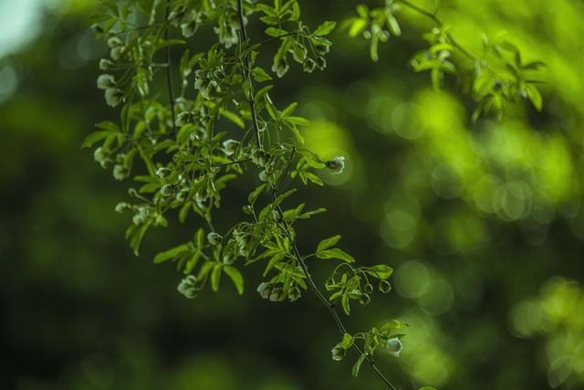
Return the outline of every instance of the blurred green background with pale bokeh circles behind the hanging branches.
{"type": "MultiPolygon", "coordinates": [[[[301,3],[312,26],[354,6],[301,3]]],[[[134,258],[128,216],[114,212],[128,184],[79,149],[96,122],[118,119],[95,87],[96,12],[95,0],[0,0],[0,388],[381,388],[367,367],[350,378],[354,356],[330,360],[339,336],[311,294],[259,299],[261,269],[246,270],[243,297],[224,283],[185,300],[181,276],[151,258],[186,227],[152,230],[134,258]]],[[[311,148],[348,159],[331,186],[303,190],[329,213],[304,223],[300,247],[339,233],[362,263],[395,269],[391,294],[348,322],[410,323],[401,358],[378,357],[401,388],[583,389],[584,3],[444,0],[438,15],[476,51],[483,32],[507,31],[547,62],[544,111],[519,104],[473,124],[461,86],[435,92],[409,69],[431,25],[405,10],[379,63],[337,31],[324,73],[293,67],[275,89],[312,121],[311,148]]]]}

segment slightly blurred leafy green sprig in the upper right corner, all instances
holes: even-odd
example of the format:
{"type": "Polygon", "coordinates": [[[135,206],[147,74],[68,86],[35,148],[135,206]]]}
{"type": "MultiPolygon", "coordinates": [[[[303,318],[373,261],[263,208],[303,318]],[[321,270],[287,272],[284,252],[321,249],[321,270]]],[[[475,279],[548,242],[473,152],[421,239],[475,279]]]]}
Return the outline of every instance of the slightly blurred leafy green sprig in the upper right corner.
{"type": "Polygon", "coordinates": [[[429,47],[412,57],[412,69],[416,72],[429,71],[436,90],[442,87],[444,74],[460,74],[477,101],[473,121],[485,113],[500,119],[506,103],[518,100],[528,100],[537,111],[542,110],[541,94],[536,87],[541,81],[533,79],[531,73],[545,64],[541,61],[524,62],[519,48],[502,37],[493,40],[483,37],[483,53],[481,56],[474,55],[456,40],[450,27],[443,25],[435,14],[408,0],[386,0],[384,6],[372,9],[357,5],[357,15],[349,17],[343,26],[348,29],[350,37],[362,35],[370,40],[370,57],[377,61],[379,42],[387,41],[391,35],[401,35],[395,18],[401,6],[431,18],[437,25],[423,35],[429,47]],[[457,69],[452,59],[454,52],[467,58],[471,66],[463,66],[465,69],[462,71],[457,69]]]}

